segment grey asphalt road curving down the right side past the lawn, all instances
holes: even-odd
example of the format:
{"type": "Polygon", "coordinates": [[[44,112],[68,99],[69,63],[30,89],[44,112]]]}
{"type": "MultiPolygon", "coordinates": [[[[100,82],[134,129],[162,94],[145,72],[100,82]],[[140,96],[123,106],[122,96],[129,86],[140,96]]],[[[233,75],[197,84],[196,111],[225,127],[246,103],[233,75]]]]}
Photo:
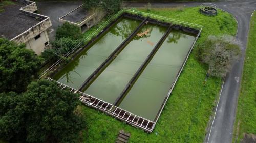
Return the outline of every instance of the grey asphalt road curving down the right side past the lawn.
{"type": "MultiPolygon", "coordinates": [[[[151,3],[152,7],[177,7],[198,6],[202,2],[185,2],[185,3],[151,3]]],[[[231,13],[238,21],[237,39],[242,42],[242,56],[232,67],[232,71],[226,75],[223,89],[220,94],[219,104],[217,106],[215,118],[210,121],[211,127],[205,137],[204,142],[221,143],[232,142],[233,125],[236,119],[236,109],[238,103],[238,95],[240,89],[240,79],[244,64],[245,48],[247,43],[247,35],[249,31],[250,17],[254,9],[256,9],[255,0],[230,0],[214,2],[219,8],[231,13]]],[[[146,3],[124,3],[124,7],[144,7],[146,3]]]]}

